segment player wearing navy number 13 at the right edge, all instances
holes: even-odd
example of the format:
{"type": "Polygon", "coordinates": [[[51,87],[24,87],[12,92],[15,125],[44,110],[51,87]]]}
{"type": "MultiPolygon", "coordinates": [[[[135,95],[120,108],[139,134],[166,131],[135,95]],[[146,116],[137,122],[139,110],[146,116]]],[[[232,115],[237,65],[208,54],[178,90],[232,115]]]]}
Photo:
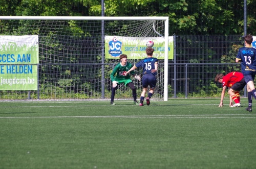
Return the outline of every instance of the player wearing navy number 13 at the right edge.
{"type": "Polygon", "coordinates": [[[241,47],[236,57],[236,62],[241,62],[242,74],[244,75],[245,82],[247,83],[248,91],[248,107],[247,111],[252,111],[252,96],[256,99],[256,90],[253,84],[253,80],[256,75],[256,49],[251,47],[253,37],[251,35],[245,35],[244,47],[241,47]]]}

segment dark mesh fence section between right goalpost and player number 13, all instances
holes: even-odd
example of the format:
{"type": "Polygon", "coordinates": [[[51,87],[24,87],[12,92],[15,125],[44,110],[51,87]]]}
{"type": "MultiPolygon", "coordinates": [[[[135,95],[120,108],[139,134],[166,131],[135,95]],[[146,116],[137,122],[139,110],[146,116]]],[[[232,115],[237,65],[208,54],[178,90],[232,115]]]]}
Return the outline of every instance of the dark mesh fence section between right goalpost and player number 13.
{"type": "Polygon", "coordinates": [[[169,98],[220,95],[222,85],[215,82],[215,76],[241,69],[235,58],[238,47],[243,45],[242,36],[175,36],[174,41],[169,98]]]}

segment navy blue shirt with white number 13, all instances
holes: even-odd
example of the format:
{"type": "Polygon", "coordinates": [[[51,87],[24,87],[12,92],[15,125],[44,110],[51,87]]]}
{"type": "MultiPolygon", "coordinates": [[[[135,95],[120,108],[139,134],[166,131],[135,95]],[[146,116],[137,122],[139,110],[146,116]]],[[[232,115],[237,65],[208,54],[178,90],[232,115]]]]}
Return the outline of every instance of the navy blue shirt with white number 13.
{"type": "Polygon", "coordinates": [[[256,49],[253,47],[241,47],[237,59],[241,61],[241,71],[244,75],[256,73],[256,49]]]}

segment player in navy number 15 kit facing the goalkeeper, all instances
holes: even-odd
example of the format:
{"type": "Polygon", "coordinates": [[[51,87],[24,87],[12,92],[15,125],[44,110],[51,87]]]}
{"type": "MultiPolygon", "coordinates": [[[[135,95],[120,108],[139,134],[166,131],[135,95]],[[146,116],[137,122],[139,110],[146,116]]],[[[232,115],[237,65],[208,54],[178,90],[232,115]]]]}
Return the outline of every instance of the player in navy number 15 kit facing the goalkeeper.
{"type": "Polygon", "coordinates": [[[146,54],[147,57],[138,63],[136,63],[130,70],[125,73],[125,76],[138,67],[143,68],[143,76],[142,76],[142,87],[143,90],[140,95],[140,104],[139,106],[143,106],[143,102],[145,99],[145,95],[147,92],[148,86],[150,86],[150,91],[147,94],[146,104],[150,105],[150,99],[155,92],[156,84],[157,84],[157,66],[158,59],[153,58],[154,49],[152,47],[147,47],[146,54]]]}

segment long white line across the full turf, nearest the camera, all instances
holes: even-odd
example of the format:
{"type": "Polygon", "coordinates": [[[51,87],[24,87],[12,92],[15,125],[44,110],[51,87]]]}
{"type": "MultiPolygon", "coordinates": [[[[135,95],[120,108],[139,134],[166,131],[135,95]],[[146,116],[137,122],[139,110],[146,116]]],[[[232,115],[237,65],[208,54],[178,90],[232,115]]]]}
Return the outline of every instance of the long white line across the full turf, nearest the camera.
{"type": "Polygon", "coordinates": [[[104,115],[104,116],[33,116],[1,118],[256,118],[256,114],[199,114],[199,115],[104,115]]]}

